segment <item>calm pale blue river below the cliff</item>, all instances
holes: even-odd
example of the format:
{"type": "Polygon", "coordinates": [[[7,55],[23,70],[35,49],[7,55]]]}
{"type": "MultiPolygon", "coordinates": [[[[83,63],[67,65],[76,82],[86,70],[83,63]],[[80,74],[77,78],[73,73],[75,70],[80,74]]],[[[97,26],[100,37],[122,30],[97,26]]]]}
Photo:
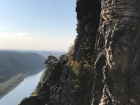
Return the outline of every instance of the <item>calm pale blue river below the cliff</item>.
{"type": "Polygon", "coordinates": [[[18,105],[18,103],[35,90],[44,70],[27,76],[15,89],[0,99],[0,105],[18,105]]]}

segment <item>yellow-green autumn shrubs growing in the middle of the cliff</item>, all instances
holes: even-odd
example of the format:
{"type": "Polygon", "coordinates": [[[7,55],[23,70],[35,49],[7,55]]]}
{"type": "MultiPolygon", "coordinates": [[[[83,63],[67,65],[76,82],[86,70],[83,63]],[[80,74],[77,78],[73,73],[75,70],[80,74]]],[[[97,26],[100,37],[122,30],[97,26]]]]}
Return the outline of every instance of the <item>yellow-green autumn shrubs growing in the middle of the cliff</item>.
{"type": "Polygon", "coordinates": [[[88,90],[87,87],[92,86],[95,77],[94,62],[96,55],[94,52],[95,37],[88,37],[85,42],[80,45],[82,51],[81,60],[79,62],[74,61],[74,57],[69,58],[67,66],[69,70],[69,79],[74,83],[74,89],[72,92],[75,95],[79,95],[81,89],[83,92],[88,90]],[[85,85],[86,84],[86,85],[85,85]]]}

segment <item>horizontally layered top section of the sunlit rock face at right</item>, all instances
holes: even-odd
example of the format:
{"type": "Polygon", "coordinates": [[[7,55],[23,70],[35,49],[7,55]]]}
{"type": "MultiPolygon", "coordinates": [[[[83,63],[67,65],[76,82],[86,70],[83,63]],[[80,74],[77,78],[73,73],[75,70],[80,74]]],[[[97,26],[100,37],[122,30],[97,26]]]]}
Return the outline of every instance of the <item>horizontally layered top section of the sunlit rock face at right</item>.
{"type": "Polygon", "coordinates": [[[105,20],[121,17],[140,18],[139,0],[101,0],[105,20]]]}

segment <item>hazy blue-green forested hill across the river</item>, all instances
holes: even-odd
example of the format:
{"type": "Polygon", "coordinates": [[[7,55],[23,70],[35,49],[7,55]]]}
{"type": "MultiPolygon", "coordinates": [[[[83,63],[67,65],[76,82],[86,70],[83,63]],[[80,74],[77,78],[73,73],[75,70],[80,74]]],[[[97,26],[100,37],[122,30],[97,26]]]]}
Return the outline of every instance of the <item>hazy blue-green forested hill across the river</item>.
{"type": "Polygon", "coordinates": [[[45,60],[36,53],[0,51],[0,83],[18,73],[45,68],[45,60]]]}

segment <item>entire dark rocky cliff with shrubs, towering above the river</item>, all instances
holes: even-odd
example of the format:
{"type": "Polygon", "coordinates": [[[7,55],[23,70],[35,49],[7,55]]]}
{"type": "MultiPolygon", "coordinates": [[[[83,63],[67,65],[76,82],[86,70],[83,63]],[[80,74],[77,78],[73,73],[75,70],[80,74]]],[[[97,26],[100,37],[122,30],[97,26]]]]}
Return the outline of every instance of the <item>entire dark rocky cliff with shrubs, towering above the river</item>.
{"type": "Polygon", "coordinates": [[[69,59],[19,105],[140,105],[140,1],[77,0],[76,12],[69,59]]]}

